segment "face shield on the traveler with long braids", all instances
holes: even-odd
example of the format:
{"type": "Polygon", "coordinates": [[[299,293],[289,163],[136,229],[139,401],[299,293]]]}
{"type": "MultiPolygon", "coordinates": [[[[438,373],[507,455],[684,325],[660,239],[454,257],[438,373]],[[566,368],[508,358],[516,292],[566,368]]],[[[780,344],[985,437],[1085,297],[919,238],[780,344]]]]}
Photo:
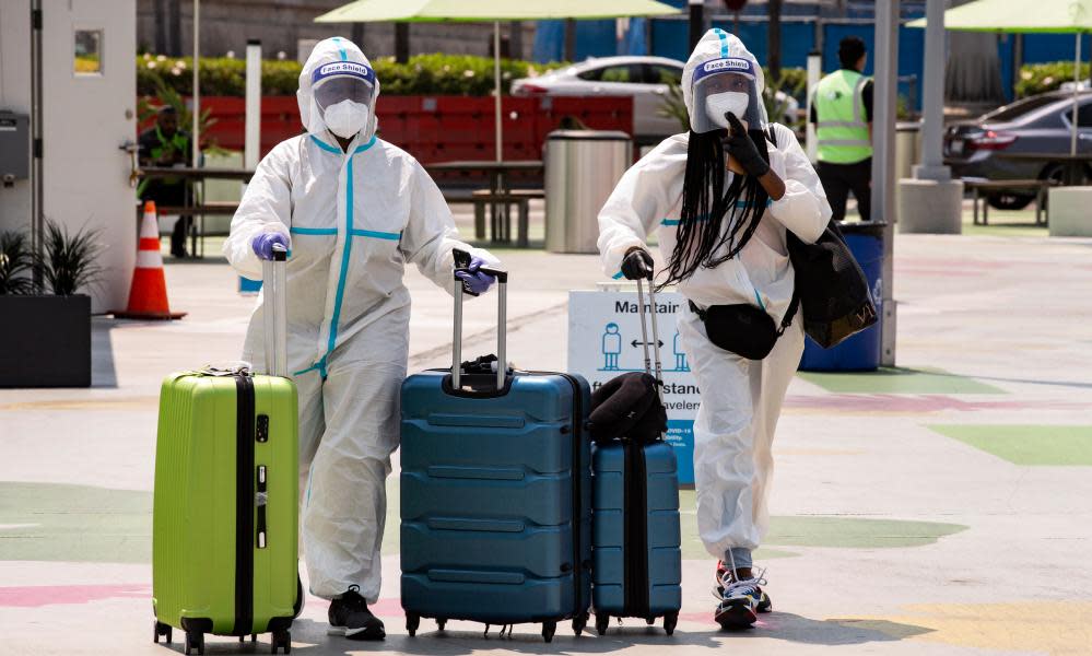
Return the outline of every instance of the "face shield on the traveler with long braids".
{"type": "Polygon", "coordinates": [[[694,73],[694,106],[690,127],[698,134],[728,128],[725,114],[732,113],[748,129],[764,129],[766,108],[759,96],[754,63],[728,57],[706,61],[694,73]]]}

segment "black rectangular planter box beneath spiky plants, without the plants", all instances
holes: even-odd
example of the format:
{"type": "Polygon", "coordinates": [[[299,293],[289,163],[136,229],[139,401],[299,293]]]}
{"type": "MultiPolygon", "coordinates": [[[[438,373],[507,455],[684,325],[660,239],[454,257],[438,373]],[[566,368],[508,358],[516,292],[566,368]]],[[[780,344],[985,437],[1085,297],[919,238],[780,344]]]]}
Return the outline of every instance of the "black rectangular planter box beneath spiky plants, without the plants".
{"type": "Polygon", "coordinates": [[[91,387],[91,296],[0,295],[0,387],[91,387]]]}

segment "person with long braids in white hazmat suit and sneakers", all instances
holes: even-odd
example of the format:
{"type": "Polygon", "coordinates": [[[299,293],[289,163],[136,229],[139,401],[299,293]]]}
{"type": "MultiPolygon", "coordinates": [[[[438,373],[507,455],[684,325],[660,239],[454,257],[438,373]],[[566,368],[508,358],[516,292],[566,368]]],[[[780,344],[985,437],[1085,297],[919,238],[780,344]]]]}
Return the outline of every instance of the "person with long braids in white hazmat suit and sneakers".
{"type": "MultiPolygon", "coordinates": [[[[659,231],[660,284],[677,284],[690,302],[679,333],[701,389],[697,528],[719,559],[715,617],[726,628],[751,625],[772,607],[751,551],[766,530],[771,443],[803,351],[802,320],[784,325],[796,305],[786,231],[814,243],[831,218],[792,131],[767,122],[762,91],[762,69],[742,42],[723,30],[707,32],[682,75],[690,131],[666,139],[630,168],[599,213],[608,274],[653,279],[645,241],[659,231]],[[776,339],[767,355],[748,360],[711,341],[702,315],[716,305],[762,312],[772,319],[770,330],[784,331],[767,333],[776,339]]],[[[745,332],[727,337],[761,337],[745,332]]]]}

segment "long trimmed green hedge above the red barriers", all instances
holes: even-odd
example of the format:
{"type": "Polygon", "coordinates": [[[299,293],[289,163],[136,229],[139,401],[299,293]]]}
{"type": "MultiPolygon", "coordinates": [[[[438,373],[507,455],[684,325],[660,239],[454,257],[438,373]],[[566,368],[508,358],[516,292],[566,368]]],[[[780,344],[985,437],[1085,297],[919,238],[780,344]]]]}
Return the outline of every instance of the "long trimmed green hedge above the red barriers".
{"type": "MultiPolygon", "coordinates": [[[[385,95],[469,95],[493,92],[493,59],[471,55],[416,55],[408,63],[392,57],[373,60],[385,95]]],[[[137,93],[154,96],[158,85],[189,95],[193,85],[192,59],[142,55],[137,58],[137,93]],[[157,82],[158,81],[158,82],[157,82]]],[[[501,61],[501,84],[508,92],[512,81],[533,77],[565,66],[532,63],[515,59],[501,61]]],[[[262,95],[295,95],[300,85],[300,63],[267,60],[261,62],[262,95]]],[[[201,58],[201,94],[243,96],[246,94],[246,61],[226,57],[201,58]]]]}

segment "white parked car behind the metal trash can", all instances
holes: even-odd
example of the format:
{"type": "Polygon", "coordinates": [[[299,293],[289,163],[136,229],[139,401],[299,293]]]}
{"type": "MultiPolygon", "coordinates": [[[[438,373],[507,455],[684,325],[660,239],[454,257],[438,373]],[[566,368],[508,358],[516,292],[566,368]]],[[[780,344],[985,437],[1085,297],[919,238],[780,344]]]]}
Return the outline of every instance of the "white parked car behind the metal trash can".
{"type": "MultiPolygon", "coordinates": [[[[599,57],[557,69],[538,78],[512,83],[515,96],[633,96],[633,132],[639,141],[661,139],[680,131],[679,121],[659,115],[668,82],[679,84],[683,62],[667,57],[599,57]]],[[[800,109],[796,98],[777,92],[785,103],[780,122],[792,125],[800,109]]]]}

